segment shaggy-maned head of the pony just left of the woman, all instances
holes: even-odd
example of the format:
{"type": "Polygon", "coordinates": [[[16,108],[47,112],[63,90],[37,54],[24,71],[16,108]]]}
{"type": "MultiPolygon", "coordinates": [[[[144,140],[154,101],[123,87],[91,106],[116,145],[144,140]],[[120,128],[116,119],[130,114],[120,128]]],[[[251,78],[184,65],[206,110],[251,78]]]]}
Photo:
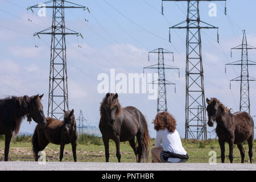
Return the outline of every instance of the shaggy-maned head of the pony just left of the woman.
{"type": "Polygon", "coordinates": [[[122,107],[118,101],[118,94],[107,93],[101,102],[101,116],[106,118],[109,125],[114,125],[115,119],[121,111],[122,107]]]}

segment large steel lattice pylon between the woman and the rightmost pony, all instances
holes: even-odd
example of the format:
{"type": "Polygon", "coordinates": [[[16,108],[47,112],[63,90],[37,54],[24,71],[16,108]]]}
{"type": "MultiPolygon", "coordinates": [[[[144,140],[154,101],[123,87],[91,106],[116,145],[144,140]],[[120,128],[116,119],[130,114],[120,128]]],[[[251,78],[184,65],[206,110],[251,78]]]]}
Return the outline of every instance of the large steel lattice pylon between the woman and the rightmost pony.
{"type": "MultiPolygon", "coordinates": [[[[207,123],[204,97],[204,71],[201,52],[202,28],[216,28],[200,20],[200,1],[226,1],[226,0],[162,0],[187,1],[187,19],[169,28],[187,29],[187,56],[186,56],[186,101],[185,101],[185,138],[207,139],[207,123]],[[185,26],[181,26],[186,24],[185,26]],[[195,129],[196,128],[196,129],[195,129]],[[200,135],[196,135],[200,130],[200,135]]],[[[163,6],[162,6],[163,10],[163,6]]],[[[171,42],[171,33],[169,35],[171,42]]]]}

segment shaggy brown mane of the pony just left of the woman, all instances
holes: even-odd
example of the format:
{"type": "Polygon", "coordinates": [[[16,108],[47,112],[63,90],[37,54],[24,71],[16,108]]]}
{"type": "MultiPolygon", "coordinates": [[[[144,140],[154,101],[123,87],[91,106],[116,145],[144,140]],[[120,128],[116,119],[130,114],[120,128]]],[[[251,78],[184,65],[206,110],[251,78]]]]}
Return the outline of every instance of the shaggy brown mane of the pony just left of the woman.
{"type": "Polygon", "coordinates": [[[101,116],[105,113],[105,107],[108,106],[110,109],[113,109],[114,106],[117,106],[117,112],[115,113],[116,116],[122,113],[122,106],[119,103],[118,98],[114,98],[114,93],[110,93],[109,97],[104,97],[101,106],[100,106],[100,114],[101,116]]]}

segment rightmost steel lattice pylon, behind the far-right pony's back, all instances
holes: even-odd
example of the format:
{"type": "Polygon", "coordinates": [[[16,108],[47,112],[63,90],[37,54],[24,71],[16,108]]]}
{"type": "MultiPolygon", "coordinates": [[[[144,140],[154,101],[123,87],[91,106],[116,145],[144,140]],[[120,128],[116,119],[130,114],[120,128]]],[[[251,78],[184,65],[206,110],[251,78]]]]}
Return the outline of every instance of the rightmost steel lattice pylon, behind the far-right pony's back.
{"type": "MultiPolygon", "coordinates": [[[[240,65],[241,66],[241,75],[230,80],[230,89],[231,81],[240,81],[240,111],[246,111],[250,113],[250,86],[249,81],[256,81],[255,78],[249,76],[248,67],[249,65],[256,65],[256,62],[248,60],[248,50],[256,49],[255,47],[249,46],[247,44],[245,30],[243,30],[243,39],[240,46],[234,47],[231,49],[231,57],[233,49],[241,49],[242,56],[241,60],[228,63],[226,65],[240,65]]],[[[226,68],[225,68],[226,72],[226,68]]]]}

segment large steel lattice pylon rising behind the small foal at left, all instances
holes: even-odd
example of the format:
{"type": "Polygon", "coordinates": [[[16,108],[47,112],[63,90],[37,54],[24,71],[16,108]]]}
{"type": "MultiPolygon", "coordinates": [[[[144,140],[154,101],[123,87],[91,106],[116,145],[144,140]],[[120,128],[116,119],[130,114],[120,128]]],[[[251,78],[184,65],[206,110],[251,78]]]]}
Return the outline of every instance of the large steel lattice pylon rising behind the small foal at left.
{"type": "MultiPolygon", "coordinates": [[[[65,9],[88,7],[77,5],[64,0],[53,0],[44,3],[46,8],[52,9],[52,26],[43,31],[36,32],[35,35],[51,35],[51,61],[49,72],[49,96],[48,96],[48,117],[61,119],[63,110],[68,110],[68,76],[67,76],[67,47],[65,43],[66,35],[79,35],[65,27],[65,9]],[[67,3],[70,6],[65,6],[67,3]]],[[[39,5],[28,7],[28,9],[41,7],[39,5]]]]}

